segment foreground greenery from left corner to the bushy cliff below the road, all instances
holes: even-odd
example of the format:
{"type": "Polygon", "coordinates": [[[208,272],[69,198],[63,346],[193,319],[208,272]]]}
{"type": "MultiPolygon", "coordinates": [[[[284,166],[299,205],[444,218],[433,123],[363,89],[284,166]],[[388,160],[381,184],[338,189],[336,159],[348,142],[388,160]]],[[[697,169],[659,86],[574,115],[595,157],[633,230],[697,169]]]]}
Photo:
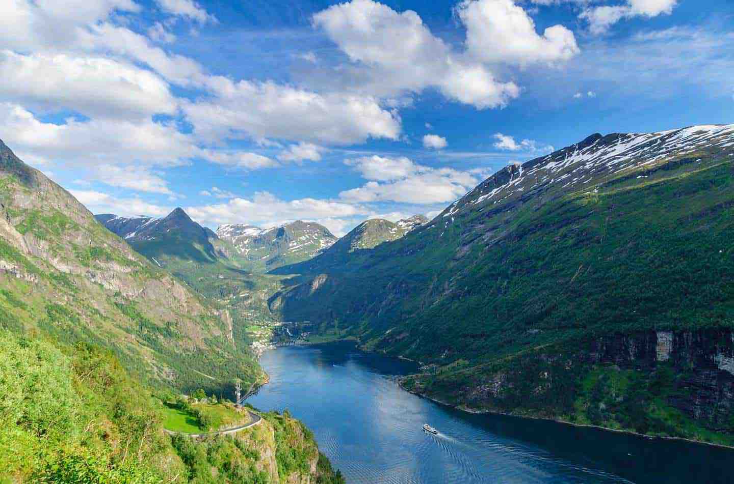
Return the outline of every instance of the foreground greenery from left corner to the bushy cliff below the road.
{"type": "Polygon", "coordinates": [[[165,417],[161,400],[131,380],[112,352],[0,330],[1,484],[271,483],[268,471],[280,469],[344,483],[324,458],[311,474],[304,458],[316,461],[318,450],[297,420],[266,417],[277,422],[275,440],[272,428],[258,425],[193,441],[164,433],[165,417]],[[273,453],[270,467],[264,456],[273,453]]]}

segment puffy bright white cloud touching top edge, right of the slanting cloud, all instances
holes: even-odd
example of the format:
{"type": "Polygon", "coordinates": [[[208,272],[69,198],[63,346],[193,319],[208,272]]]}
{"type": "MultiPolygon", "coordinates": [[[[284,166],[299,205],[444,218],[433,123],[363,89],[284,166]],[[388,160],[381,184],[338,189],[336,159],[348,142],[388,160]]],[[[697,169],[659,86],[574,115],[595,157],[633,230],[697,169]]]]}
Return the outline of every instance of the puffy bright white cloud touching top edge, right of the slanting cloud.
{"type": "Polygon", "coordinates": [[[537,34],[533,19],[513,0],[464,0],[457,12],[466,26],[467,51],[476,59],[527,65],[579,53],[573,32],[554,25],[537,34]]]}

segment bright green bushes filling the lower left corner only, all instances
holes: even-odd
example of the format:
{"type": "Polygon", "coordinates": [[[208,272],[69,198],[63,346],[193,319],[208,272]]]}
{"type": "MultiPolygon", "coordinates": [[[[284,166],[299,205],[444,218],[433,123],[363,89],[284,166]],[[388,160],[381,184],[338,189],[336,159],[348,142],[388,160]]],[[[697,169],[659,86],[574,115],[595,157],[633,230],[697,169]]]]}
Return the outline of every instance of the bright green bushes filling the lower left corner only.
{"type": "Polygon", "coordinates": [[[0,482],[154,483],[183,470],[112,353],[0,332],[0,482]]]}

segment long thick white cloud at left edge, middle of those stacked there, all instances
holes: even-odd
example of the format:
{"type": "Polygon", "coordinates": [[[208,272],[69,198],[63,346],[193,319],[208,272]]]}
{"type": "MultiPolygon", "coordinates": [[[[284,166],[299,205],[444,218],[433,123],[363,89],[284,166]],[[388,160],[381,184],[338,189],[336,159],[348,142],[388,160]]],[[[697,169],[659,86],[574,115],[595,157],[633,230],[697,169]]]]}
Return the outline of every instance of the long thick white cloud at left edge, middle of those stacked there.
{"type": "Polygon", "coordinates": [[[102,57],[0,51],[0,101],[90,117],[139,118],[173,114],[176,100],[148,70],[102,57]]]}

